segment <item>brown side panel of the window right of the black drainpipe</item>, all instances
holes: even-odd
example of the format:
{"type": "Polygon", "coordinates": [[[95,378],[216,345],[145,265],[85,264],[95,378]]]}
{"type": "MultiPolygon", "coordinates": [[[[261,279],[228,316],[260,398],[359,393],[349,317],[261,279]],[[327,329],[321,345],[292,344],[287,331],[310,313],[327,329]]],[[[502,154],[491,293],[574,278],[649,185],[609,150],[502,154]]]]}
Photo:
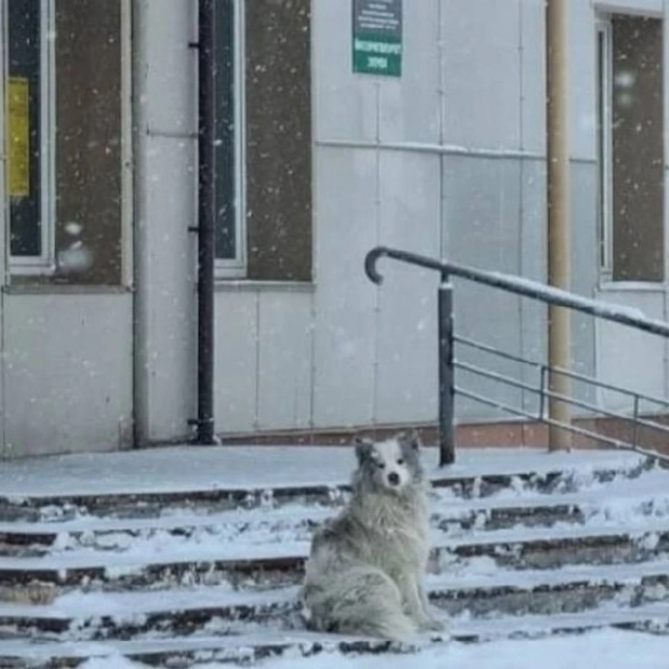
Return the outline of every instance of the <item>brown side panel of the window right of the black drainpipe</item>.
{"type": "Polygon", "coordinates": [[[247,277],[312,280],[312,1],[245,3],[247,277]]]}

